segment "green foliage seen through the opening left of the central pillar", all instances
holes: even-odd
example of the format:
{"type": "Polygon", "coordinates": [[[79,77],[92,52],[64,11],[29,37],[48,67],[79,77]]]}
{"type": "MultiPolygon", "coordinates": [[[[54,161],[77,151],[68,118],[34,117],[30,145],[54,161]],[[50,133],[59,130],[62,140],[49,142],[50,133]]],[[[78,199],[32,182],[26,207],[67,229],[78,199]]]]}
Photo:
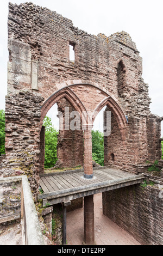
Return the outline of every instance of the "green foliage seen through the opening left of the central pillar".
{"type": "Polygon", "coordinates": [[[45,117],[45,168],[51,168],[57,162],[58,131],[52,125],[52,119],[45,117]]]}

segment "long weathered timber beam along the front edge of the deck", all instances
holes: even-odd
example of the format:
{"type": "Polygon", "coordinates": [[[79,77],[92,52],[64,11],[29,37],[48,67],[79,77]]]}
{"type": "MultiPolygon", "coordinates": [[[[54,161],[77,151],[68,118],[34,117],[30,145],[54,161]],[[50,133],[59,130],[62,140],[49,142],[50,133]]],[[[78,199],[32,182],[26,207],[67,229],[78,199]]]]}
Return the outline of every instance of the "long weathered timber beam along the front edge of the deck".
{"type": "Polygon", "coordinates": [[[109,180],[109,181],[103,181],[103,182],[98,182],[98,183],[93,183],[85,186],[80,186],[80,187],[73,187],[73,188],[67,188],[67,190],[59,190],[59,191],[54,191],[54,192],[49,192],[49,193],[44,193],[44,194],[39,194],[37,196],[38,199],[45,199],[47,198],[48,200],[54,199],[54,198],[59,198],[62,196],[68,196],[72,193],[80,193],[88,190],[93,190],[93,189],[98,189],[102,187],[107,187],[107,186],[113,186],[117,184],[122,184],[124,182],[131,182],[135,180],[142,180],[144,177],[143,174],[139,175],[134,175],[130,176],[127,178],[120,178],[116,180],[109,180]]]}

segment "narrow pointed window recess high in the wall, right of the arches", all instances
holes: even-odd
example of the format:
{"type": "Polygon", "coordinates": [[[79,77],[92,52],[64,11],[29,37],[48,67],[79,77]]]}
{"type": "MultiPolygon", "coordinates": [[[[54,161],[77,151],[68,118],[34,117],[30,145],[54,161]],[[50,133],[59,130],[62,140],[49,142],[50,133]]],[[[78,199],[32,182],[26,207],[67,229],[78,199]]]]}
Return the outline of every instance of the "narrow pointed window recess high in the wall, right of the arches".
{"type": "Polygon", "coordinates": [[[118,96],[124,97],[124,89],[125,89],[125,75],[126,68],[122,62],[122,60],[118,63],[117,66],[117,82],[118,82],[118,96]]]}

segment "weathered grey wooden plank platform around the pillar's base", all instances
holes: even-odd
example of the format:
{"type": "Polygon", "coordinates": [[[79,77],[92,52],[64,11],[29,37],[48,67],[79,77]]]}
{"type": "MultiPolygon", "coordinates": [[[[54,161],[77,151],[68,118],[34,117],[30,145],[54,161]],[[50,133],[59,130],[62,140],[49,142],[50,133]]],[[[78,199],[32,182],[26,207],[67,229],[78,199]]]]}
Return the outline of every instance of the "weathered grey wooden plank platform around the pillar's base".
{"type": "Polygon", "coordinates": [[[114,190],[143,182],[143,174],[133,174],[122,170],[102,167],[93,168],[93,179],[83,177],[83,169],[40,175],[43,206],[70,202],[90,194],[114,190]]]}

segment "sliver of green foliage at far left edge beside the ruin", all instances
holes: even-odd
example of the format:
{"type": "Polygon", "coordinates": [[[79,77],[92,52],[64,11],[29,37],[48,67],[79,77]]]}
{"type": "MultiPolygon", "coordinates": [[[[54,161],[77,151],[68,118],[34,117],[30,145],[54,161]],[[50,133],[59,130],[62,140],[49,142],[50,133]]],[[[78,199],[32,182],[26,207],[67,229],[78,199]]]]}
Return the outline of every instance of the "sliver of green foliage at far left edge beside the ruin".
{"type": "Polygon", "coordinates": [[[5,112],[0,110],[0,155],[5,154],[5,112]]]}

